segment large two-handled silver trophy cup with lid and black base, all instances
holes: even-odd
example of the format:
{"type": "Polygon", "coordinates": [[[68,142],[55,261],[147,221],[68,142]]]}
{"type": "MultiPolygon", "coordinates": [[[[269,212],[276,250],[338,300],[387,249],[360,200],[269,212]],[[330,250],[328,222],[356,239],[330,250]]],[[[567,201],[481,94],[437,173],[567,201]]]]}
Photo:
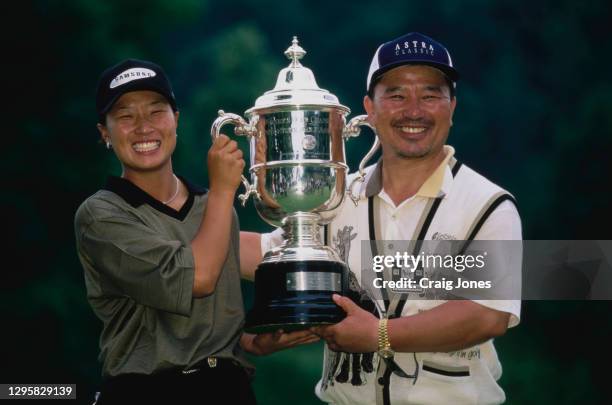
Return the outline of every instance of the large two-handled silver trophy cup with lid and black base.
{"type": "Polygon", "coordinates": [[[251,182],[242,177],[246,192],[239,198],[244,205],[253,195],[263,220],[284,231],[282,245],[265,254],[255,273],[255,301],[245,326],[253,333],[336,323],[345,316],[331,296],[346,294],[348,268],[324,245],[320,227],[344,200],[344,140],[369,124],[362,115],[346,125],[350,110],[319,88],[300,63],[305,54],[294,37],[285,51],[291,63],[274,89],[245,112],[248,122],[219,111],[211,128],[213,141],[226,124],[249,138],[251,182]]]}

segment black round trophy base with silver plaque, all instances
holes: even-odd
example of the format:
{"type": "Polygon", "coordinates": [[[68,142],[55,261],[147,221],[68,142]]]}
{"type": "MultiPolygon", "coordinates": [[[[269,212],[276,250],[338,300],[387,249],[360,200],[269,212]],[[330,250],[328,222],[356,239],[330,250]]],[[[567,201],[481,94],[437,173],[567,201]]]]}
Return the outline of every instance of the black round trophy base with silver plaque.
{"type": "Polygon", "coordinates": [[[285,332],[340,322],[346,314],[332,300],[346,295],[348,269],[340,262],[262,263],[255,272],[255,301],[245,331],[285,332]]]}

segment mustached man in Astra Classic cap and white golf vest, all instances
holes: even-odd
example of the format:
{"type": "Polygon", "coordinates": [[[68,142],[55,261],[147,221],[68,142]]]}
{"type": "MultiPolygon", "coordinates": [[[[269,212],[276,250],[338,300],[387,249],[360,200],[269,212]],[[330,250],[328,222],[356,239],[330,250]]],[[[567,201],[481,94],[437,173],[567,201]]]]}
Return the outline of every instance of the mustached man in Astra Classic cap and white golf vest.
{"type": "MultiPolygon", "coordinates": [[[[382,44],[373,57],[364,107],[381,142],[382,158],[366,169],[357,205],[347,199],[327,232],[337,251],[348,252],[343,259],[358,284],[355,293],[370,297],[373,313],[334,295],[347,317],[336,325],[313,328],[327,343],[323,376],[316,387],[323,401],[505,400],[496,383],[501,365],[492,338],[518,324],[520,301],[435,301],[418,296],[406,300],[389,294],[383,302],[376,299],[380,291],[362,279],[364,240],[522,237],[514,199],[459,163],[454,149],[446,145],[458,78],[446,48],[419,33],[382,44]]],[[[242,239],[245,247],[257,241],[251,234],[242,239]]],[[[278,232],[263,235],[262,252],[278,241],[278,232]]]]}

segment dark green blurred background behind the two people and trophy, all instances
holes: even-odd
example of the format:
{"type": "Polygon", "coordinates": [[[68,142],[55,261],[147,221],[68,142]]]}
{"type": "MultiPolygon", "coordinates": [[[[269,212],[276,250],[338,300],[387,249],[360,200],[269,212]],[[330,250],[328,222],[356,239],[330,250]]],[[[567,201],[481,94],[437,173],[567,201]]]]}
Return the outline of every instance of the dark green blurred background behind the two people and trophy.
{"type": "MultiPolygon", "coordinates": [[[[4,215],[0,383],[99,383],[100,323],[74,248],[78,205],[119,174],[95,128],[99,73],[157,61],[181,110],[175,167],[206,185],[210,125],[274,86],[293,35],[319,85],[361,114],[377,46],[409,31],[444,43],[462,74],[449,139],[513,192],[525,239],[612,239],[609,2],[20,1],[3,6],[4,215]]],[[[365,131],[364,131],[365,132],[365,131]]],[[[371,133],[347,144],[354,170],[371,133]]],[[[243,145],[244,142],[243,142],[243,145]]],[[[252,203],[241,227],[266,231],[252,203]]],[[[243,285],[247,306],[251,285],[243,285]]],[[[600,403],[609,302],[525,302],[497,339],[511,404],[600,403]]],[[[262,404],[318,403],[322,346],[254,359],[262,404]]],[[[607,364],[607,363],[606,363],[607,364]]],[[[203,397],[206,393],[202,393],[203,397]]]]}

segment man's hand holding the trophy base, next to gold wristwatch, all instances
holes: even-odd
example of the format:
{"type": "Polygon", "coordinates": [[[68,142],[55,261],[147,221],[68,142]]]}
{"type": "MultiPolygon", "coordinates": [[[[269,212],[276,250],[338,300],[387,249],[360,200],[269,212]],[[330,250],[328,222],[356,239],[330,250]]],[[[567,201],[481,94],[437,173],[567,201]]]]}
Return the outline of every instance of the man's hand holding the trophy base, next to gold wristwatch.
{"type": "Polygon", "coordinates": [[[332,298],[346,312],[346,318],[335,325],[317,326],[310,330],[334,351],[369,353],[378,350],[378,318],[350,298],[338,294],[332,298]]]}

